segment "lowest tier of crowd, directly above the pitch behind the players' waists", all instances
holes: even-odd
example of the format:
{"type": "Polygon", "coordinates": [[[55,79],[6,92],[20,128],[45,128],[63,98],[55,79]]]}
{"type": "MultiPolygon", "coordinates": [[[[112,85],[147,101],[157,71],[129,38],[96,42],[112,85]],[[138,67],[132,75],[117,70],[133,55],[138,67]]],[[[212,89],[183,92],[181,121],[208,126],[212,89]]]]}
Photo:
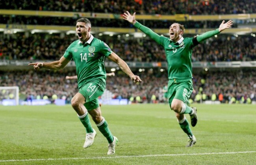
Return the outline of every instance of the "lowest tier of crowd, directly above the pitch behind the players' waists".
{"type": "MultiPolygon", "coordinates": [[[[41,70],[1,71],[1,86],[19,86],[20,99],[31,100],[39,98],[65,99],[70,103],[72,96],[78,92],[77,80],[66,80],[65,76],[75,75],[75,70],[60,70],[57,72],[41,70]]],[[[134,102],[163,102],[162,88],[167,85],[167,73],[146,70],[137,72],[143,82],[134,84],[123,72],[116,76],[108,76],[106,89],[113,93],[113,98],[134,98],[134,102]],[[139,96],[140,100],[135,100],[139,96]]],[[[255,70],[237,69],[230,71],[212,71],[193,75],[195,93],[191,95],[194,101],[220,100],[223,103],[246,102],[247,98],[256,101],[256,72],[255,70]],[[221,74],[220,74],[221,73],[221,74]],[[220,94],[222,99],[219,98],[220,94]],[[200,97],[198,97],[198,95],[200,97]]],[[[0,91],[2,92],[2,91],[0,91]]],[[[1,100],[8,95],[1,93],[1,100]]]]}

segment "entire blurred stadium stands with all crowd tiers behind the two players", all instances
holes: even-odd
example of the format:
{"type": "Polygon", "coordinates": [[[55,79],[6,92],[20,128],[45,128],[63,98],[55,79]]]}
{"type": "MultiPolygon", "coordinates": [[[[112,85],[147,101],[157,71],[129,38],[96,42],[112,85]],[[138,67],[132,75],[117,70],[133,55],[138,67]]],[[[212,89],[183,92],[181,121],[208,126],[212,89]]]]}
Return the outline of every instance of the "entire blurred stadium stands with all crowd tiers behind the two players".
{"type": "Polygon", "coordinates": [[[74,61],[62,70],[34,71],[28,63],[55,61],[77,40],[76,20],[91,21],[92,34],[109,45],[143,80],[134,84],[105,60],[108,73],[102,104],[166,103],[167,62],[162,46],[122,19],[126,11],[159,35],[184,24],[193,37],[233,20],[232,28],[193,50],[193,87],[189,102],[256,104],[255,0],[1,0],[0,104],[70,104],[78,92],[74,61]],[[18,88],[17,88],[18,87],[18,88]]]}

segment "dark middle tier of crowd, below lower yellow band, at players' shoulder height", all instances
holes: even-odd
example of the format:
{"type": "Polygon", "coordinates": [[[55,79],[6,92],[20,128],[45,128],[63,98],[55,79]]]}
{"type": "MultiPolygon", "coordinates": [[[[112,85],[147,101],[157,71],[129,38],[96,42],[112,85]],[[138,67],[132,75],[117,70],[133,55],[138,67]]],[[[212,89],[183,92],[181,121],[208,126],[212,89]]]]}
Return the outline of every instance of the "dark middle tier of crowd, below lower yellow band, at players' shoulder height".
{"type": "MultiPolygon", "coordinates": [[[[117,36],[96,36],[106,43],[125,61],[161,62],[166,61],[161,45],[151,39],[117,36]]],[[[27,35],[0,33],[0,59],[13,60],[58,60],[75,35],[35,33],[27,35]]],[[[192,61],[255,61],[256,37],[251,35],[222,35],[210,38],[194,48],[192,61]],[[228,40],[228,42],[225,42],[228,40]]]]}

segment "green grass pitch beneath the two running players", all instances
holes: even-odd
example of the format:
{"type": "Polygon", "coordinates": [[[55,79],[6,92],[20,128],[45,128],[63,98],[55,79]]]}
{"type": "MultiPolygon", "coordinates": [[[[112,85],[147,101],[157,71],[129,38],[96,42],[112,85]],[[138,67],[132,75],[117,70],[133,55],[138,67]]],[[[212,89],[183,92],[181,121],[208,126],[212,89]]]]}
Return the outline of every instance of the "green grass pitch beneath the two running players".
{"type": "Polygon", "coordinates": [[[83,148],[85,129],[70,105],[0,106],[0,164],[256,164],[256,105],[193,106],[197,143],[186,148],[187,135],[167,104],[103,105],[102,116],[119,139],[111,156],[92,120],[97,136],[83,148]]]}

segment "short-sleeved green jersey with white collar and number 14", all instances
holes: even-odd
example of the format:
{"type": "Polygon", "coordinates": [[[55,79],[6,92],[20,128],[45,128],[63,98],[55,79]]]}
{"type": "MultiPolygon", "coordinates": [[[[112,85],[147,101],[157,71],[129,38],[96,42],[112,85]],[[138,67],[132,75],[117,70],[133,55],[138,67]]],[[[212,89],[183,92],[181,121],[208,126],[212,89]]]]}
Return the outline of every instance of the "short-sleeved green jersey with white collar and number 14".
{"type": "Polygon", "coordinates": [[[69,45],[63,56],[69,60],[73,59],[76,64],[78,89],[93,80],[100,80],[104,85],[106,84],[104,58],[111,53],[109,46],[93,35],[85,44],[76,40],[69,45]]]}

